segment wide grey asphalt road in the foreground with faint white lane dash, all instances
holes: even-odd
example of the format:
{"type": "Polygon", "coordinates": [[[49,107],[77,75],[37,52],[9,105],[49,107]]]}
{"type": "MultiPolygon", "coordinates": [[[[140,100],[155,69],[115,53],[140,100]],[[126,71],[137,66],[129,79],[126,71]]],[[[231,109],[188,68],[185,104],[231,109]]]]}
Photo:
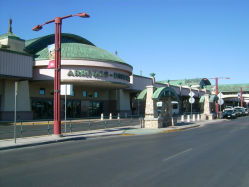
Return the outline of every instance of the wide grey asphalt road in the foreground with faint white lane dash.
{"type": "Polygon", "coordinates": [[[249,117],[0,152],[0,186],[248,187],[249,117]]]}

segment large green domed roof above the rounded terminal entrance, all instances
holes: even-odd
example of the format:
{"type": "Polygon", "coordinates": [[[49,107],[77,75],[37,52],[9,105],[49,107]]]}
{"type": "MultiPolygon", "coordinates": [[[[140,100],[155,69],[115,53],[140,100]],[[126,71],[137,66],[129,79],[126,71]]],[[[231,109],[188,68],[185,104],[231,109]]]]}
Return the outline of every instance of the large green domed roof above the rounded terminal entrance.
{"type": "MultiPolygon", "coordinates": [[[[54,34],[26,41],[25,50],[35,56],[35,60],[48,60],[48,45],[54,43],[54,34]]],[[[96,47],[93,43],[74,34],[63,33],[61,59],[93,60],[126,64],[118,56],[96,47]]],[[[129,64],[126,64],[129,65],[129,64]]],[[[130,65],[129,65],[130,66],[130,65]]]]}

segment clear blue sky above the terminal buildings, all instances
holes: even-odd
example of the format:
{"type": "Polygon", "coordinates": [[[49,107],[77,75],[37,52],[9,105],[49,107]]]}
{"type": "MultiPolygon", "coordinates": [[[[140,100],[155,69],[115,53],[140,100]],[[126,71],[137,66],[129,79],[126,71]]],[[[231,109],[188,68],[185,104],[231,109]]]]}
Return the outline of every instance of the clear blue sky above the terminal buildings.
{"type": "Polygon", "coordinates": [[[23,39],[51,34],[53,24],[39,32],[31,28],[84,11],[91,18],[65,20],[63,32],[117,50],[135,74],[249,83],[249,0],[1,0],[0,7],[1,34],[9,18],[23,39]]]}

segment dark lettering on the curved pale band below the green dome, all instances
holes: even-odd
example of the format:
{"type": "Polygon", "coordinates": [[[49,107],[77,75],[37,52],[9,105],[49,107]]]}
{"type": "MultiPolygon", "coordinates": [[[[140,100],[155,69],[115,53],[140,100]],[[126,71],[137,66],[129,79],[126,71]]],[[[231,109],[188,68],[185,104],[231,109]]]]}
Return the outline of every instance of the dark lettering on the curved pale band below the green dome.
{"type": "Polygon", "coordinates": [[[113,77],[114,79],[120,79],[130,82],[128,75],[116,72],[97,71],[97,70],[70,70],[67,75],[69,77],[88,77],[88,78],[107,78],[113,77]]]}

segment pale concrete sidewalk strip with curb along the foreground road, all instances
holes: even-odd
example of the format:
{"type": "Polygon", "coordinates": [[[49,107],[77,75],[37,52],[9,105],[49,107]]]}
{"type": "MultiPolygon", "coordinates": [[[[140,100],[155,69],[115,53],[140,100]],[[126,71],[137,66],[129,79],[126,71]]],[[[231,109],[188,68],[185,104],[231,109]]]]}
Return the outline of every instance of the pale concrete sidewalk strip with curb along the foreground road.
{"type": "Polygon", "coordinates": [[[198,121],[192,124],[182,124],[177,126],[170,126],[160,129],[144,129],[140,126],[125,126],[109,129],[91,130],[91,131],[80,131],[74,133],[65,133],[62,137],[57,137],[54,135],[44,135],[44,136],[33,136],[25,138],[17,138],[16,143],[13,139],[0,140],[0,150],[28,147],[56,142],[64,142],[70,140],[84,140],[89,138],[104,137],[104,136],[117,136],[117,135],[146,135],[146,134],[158,134],[174,132],[189,128],[195,128],[203,126],[205,124],[221,122],[224,120],[213,120],[213,121],[198,121]]]}

